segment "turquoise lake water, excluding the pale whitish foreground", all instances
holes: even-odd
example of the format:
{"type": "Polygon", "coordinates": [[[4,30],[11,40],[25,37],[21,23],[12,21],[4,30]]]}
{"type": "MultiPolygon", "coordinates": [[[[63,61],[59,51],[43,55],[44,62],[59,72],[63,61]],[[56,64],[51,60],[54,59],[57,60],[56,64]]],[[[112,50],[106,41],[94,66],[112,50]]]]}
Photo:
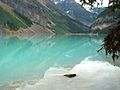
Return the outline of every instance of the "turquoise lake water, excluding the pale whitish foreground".
{"type": "Polygon", "coordinates": [[[104,36],[87,35],[1,37],[0,85],[16,81],[40,80],[52,67],[72,69],[88,59],[112,63],[110,57],[106,58],[104,51],[97,52],[103,43],[103,38],[104,36]]]}

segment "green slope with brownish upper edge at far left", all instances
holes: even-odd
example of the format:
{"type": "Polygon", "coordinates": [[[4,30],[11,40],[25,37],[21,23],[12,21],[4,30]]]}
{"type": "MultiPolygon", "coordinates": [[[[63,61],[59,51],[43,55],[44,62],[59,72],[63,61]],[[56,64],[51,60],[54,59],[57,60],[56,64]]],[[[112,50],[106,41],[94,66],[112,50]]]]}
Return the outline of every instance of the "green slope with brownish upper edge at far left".
{"type": "Polygon", "coordinates": [[[30,27],[32,22],[26,17],[12,11],[11,8],[0,2],[0,27],[17,30],[20,27],[30,27]]]}

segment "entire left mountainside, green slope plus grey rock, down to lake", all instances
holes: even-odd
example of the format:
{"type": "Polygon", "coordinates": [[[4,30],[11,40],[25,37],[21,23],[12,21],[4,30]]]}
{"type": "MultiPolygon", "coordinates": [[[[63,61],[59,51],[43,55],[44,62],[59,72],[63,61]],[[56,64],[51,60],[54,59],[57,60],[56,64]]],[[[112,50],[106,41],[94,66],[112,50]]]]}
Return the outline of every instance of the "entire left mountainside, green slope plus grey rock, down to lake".
{"type": "Polygon", "coordinates": [[[0,27],[7,33],[73,34],[89,28],[49,0],[1,0],[0,27]],[[4,16],[4,18],[2,18],[4,16]]]}

